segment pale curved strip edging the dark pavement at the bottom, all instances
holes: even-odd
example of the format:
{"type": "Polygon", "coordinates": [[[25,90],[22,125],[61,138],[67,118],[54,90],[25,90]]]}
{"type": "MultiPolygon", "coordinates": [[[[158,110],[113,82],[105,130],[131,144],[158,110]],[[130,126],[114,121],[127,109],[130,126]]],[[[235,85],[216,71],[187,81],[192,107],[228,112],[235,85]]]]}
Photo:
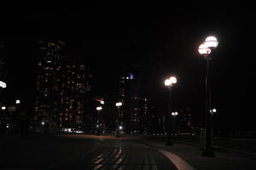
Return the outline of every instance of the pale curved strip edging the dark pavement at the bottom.
{"type": "Polygon", "coordinates": [[[194,167],[190,166],[189,163],[187,163],[186,161],[183,161],[183,159],[181,159],[179,156],[172,154],[167,150],[160,150],[160,149],[157,149],[157,150],[159,150],[160,153],[162,153],[170,161],[172,161],[178,170],[195,170],[194,167]]]}

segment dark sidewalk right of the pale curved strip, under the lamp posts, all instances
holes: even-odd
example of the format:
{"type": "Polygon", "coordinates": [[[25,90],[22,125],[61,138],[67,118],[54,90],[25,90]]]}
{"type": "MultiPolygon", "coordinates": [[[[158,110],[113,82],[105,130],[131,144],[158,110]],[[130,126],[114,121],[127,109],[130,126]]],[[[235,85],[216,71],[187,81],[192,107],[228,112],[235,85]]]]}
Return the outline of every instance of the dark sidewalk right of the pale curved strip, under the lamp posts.
{"type": "Polygon", "coordinates": [[[202,150],[199,145],[177,144],[174,141],[172,146],[168,146],[165,144],[165,141],[150,140],[143,136],[124,136],[120,139],[129,139],[160,150],[167,150],[197,170],[256,169],[256,159],[254,156],[252,158],[241,156],[229,150],[214,149],[214,157],[204,157],[201,156],[202,150]]]}

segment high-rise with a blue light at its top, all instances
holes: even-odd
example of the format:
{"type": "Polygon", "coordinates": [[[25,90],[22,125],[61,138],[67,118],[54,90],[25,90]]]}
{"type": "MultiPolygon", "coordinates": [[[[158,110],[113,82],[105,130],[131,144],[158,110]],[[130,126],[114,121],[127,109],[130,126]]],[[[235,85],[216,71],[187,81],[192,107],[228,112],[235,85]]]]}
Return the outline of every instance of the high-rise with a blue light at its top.
{"type": "Polygon", "coordinates": [[[128,73],[119,83],[119,122],[125,133],[146,133],[148,119],[148,99],[141,93],[140,80],[128,73]]]}

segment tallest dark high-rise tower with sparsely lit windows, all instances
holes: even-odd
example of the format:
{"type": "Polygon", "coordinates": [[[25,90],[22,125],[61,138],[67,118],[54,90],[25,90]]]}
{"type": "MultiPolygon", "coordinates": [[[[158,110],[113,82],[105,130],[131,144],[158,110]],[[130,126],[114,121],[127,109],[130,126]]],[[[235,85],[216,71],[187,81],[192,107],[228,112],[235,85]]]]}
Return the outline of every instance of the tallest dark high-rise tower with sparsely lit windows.
{"type": "Polygon", "coordinates": [[[61,41],[44,39],[38,42],[35,122],[49,122],[52,126],[56,126],[55,91],[59,90],[59,80],[56,75],[61,68],[65,46],[65,42],[61,41]]]}

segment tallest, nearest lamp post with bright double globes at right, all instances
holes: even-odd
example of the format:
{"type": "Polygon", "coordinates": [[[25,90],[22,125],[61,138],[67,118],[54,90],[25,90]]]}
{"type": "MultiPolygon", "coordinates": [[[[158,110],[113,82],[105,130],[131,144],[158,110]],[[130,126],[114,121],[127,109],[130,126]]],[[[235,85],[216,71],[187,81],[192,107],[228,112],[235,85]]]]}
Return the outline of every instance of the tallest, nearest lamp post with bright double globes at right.
{"type": "Polygon", "coordinates": [[[209,54],[213,48],[217,48],[218,40],[216,37],[210,36],[207,37],[206,41],[202,43],[199,48],[199,54],[204,56],[204,59],[207,61],[206,67],[206,141],[205,141],[205,150],[203,150],[201,156],[215,156],[212,152],[212,114],[210,111],[211,108],[211,99],[210,99],[210,78],[209,78],[209,69],[210,69],[210,60],[212,59],[209,54]]]}

